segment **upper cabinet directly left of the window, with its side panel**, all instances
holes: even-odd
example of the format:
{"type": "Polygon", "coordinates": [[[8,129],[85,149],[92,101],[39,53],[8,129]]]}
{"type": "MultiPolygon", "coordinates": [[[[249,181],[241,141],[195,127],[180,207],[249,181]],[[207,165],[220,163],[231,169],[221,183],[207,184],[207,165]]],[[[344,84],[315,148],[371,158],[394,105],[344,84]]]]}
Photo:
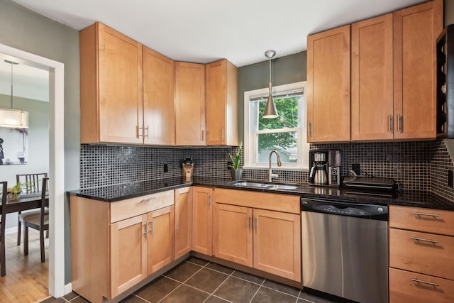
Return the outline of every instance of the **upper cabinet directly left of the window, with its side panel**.
{"type": "Polygon", "coordinates": [[[206,145],[238,145],[238,69],[223,59],[205,71],[206,145]]]}

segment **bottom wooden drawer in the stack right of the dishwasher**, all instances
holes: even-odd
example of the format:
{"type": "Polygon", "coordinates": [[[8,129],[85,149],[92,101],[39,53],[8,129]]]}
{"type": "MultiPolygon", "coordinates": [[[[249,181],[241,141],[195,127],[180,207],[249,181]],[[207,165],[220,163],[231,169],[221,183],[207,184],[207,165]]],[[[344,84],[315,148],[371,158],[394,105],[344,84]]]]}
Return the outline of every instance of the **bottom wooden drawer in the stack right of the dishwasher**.
{"type": "Polygon", "coordinates": [[[389,268],[389,302],[454,302],[454,281],[389,268]]]}

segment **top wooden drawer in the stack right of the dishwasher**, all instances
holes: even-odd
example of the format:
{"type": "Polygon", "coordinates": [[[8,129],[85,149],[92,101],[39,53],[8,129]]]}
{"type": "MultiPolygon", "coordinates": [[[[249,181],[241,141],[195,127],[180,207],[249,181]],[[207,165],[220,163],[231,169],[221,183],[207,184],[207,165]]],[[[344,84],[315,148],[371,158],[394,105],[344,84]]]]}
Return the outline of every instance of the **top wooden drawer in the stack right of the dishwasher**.
{"type": "Polygon", "coordinates": [[[454,236],[454,211],[389,206],[389,227],[454,236]]]}

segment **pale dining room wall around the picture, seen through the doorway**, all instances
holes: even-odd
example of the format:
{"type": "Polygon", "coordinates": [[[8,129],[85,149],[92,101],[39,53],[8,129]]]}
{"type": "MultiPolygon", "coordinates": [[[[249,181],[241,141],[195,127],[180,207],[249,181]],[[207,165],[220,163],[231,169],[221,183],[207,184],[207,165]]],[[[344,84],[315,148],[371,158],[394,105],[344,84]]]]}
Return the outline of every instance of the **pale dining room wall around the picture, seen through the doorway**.
{"type": "MultiPolygon", "coordinates": [[[[0,108],[10,108],[11,96],[0,94],[0,108]]],[[[0,181],[16,183],[16,174],[49,172],[49,102],[14,97],[14,109],[28,111],[28,162],[0,165],[0,181]]],[[[17,214],[6,216],[6,228],[17,226],[17,214]]]]}

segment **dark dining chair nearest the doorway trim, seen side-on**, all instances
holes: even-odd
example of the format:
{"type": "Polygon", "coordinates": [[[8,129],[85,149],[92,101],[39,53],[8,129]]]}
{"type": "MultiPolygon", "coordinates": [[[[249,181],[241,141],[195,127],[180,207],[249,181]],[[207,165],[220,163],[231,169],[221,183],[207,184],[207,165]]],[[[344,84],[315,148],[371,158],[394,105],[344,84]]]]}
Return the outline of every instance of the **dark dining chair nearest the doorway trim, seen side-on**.
{"type": "Polygon", "coordinates": [[[43,187],[41,190],[40,212],[34,216],[26,213],[20,214],[19,217],[23,223],[23,254],[28,255],[28,228],[36,229],[40,232],[41,263],[45,261],[44,255],[44,231],[49,230],[49,214],[45,211],[45,194],[48,189],[49,178],[43,178],[43,187]]]}

